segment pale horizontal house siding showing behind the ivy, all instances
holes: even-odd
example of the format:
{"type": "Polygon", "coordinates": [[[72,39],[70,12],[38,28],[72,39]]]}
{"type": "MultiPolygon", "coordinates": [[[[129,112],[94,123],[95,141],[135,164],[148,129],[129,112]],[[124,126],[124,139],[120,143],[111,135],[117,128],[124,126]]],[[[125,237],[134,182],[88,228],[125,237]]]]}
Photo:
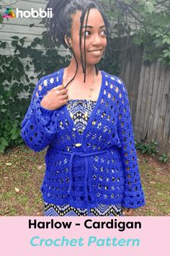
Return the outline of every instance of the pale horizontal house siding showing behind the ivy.
{"type": "MultiPolygon", "coordinates": [[[[25,10],[31,10],[33,8],[34,10],[38,10],[39,8],[45,9],[46,4],[48,1],[45,0],[19,0],[16,4],[12,4],[12,2],[16,2],[16,0],[6,0],[5,3],[9,4],[12,8],[12,11],[16,14],[16,8],[19,10],[25,11],[25,10]]],[[[1,3],[1,6],[3,9],[1,9],[1,12],[4,12],[6,7],[4,7],[4,2],[1,3]]],[[[19,38],[27,37],[25,39],[24,46],[30,45],[32,40],[36,37],[41,38],[41,34],[43,31],[45,31],[45,27],[43,24],[40,24],[40,21],[42,19],[40,17],[37,18],[9,18],[9,20],[6,20],[4,18],[3,24],[0,24],[0,40],[6,41],[8,43],[8,47],[5,49],[0,49],[0,54],[6,54],[6,56],[10,56],[14,54],[14,47],[12,46],[12,39],[11,37],[14,35],[17,35],[19,38]],[[30,27],[30,24],[35,24],[34,27],[30,27]]],[[[37,46],[38,49],[45,51],[42,46],[37,46]]],[[[23,59],[22,63],[26,63],[27,59],[23,59]]],[[[29,76],[36,76],[34,73],[34,67],[30,66],[30,70],[27,71],[27,74],[29,76]]],[[[37,79],[32,80],[35,84],[37,83],[37,79]]]]}

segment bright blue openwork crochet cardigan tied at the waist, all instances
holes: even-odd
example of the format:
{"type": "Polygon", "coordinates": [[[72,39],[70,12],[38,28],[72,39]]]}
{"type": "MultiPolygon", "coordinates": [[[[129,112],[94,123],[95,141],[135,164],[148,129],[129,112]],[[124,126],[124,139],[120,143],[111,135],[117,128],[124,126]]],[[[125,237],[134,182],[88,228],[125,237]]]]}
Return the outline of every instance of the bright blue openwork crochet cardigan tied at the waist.
{"type": "Polygon", "coordinates": [[[44,95],[61,85],[63,70],[42,77],[22,121],[22,138],[32,150],[48,146],[41,192],[45,202],[75,208],[145,205],[125,84],[102,72],[96,106],[80,137],[66,105],[50,111],[44,95]]]}

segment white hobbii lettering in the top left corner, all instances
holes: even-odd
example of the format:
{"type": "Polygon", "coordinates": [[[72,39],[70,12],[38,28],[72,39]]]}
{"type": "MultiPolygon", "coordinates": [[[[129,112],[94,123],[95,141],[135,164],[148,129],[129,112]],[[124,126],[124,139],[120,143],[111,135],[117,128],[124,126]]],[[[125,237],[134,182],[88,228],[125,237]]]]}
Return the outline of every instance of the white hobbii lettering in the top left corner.
{"type": "Polygon", "coordinates": [[[31,8],[30,11],[26,10],[26,11],[22,11],[22,10],[19,10],[18,8],[16,9],[16,17],[17,18],[37,18],[37,17],[40,17],[40,18],[45,18],[45,17],[48,17],[48,18],[52,18],[53,17],[53,10],[52,8],[48,8],[47,9],[47,12],[42,10],[41,8],[39,8],[39,11],[36,11],[34,10],[33,8],[31,8]]]}

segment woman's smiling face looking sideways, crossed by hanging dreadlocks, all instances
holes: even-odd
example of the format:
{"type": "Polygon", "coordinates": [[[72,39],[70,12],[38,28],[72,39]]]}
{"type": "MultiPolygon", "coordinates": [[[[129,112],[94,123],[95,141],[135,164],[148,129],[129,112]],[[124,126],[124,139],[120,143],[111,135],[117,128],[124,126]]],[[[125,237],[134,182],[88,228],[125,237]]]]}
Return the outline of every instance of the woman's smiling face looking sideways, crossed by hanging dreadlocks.
{"type": "MultiPolygon", "coordinates": [[[[90,9],[89,17],[86,25],[86,16],[81,33],[81,51],[84,60],[84,35],[86,33],[86,64],[97,64],[104,53],[104,48],[107,46],[106,27],[102,14],[97,9],[90,9]],[[86,30],[85,30],[86,25],[86,30]]],[[[81,51],[79,44],[81,12],[78,11],[72,16],[71,38],[70,44],[76,56],[78,63],[81,63],[81,51]]]]}

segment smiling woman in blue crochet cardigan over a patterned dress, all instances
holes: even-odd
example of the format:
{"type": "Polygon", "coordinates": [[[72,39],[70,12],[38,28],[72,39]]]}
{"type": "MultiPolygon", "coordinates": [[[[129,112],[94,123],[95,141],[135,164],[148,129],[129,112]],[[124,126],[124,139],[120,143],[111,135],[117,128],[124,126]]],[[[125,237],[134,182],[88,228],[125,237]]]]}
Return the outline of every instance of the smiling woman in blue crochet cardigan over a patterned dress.
{"type": "Polygon", "coordinates": [[[35,151],[48,146],[45,216],[125,216],[145,204],[130,106],[119,77],[98,70],[109,22],[93,0],[49,1],[50,36],[73,54],[42,77],[22,121],[35,151]]]}

